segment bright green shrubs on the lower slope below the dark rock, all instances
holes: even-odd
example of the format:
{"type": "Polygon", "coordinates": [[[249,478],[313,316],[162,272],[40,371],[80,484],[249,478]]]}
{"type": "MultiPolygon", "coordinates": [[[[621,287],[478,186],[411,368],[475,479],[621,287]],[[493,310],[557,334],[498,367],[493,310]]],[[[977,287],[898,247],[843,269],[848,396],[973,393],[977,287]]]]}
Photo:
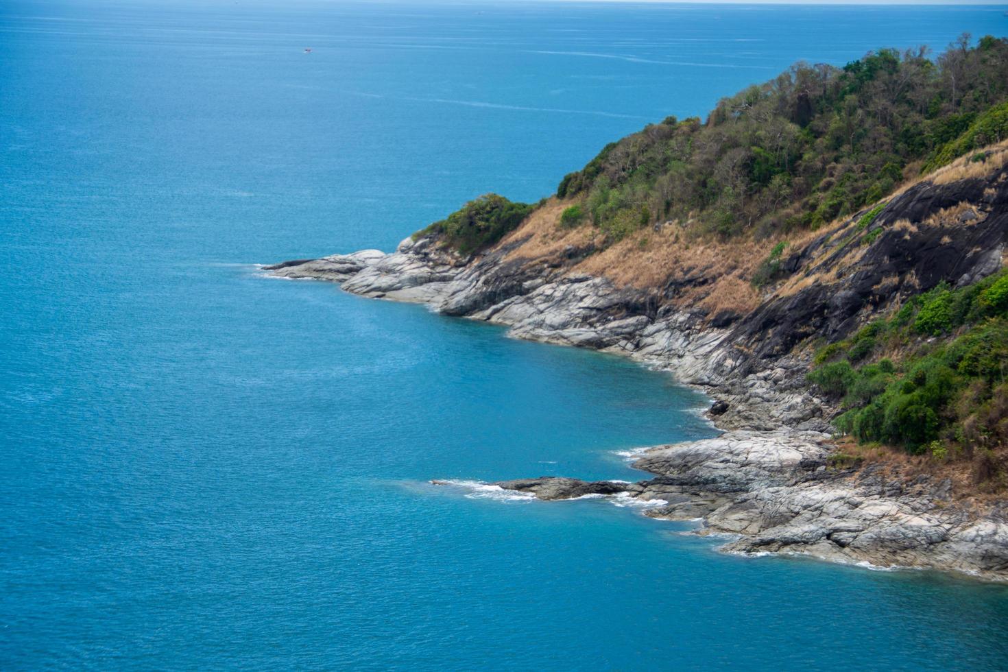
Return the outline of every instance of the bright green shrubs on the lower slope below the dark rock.
{"type": "Polygon", "coordinates": [[[836,424],[859,440],[969,456],[1004,444],[1008,271],[911,297],[815,363],[809,381],[841,400],[836,424]]]}

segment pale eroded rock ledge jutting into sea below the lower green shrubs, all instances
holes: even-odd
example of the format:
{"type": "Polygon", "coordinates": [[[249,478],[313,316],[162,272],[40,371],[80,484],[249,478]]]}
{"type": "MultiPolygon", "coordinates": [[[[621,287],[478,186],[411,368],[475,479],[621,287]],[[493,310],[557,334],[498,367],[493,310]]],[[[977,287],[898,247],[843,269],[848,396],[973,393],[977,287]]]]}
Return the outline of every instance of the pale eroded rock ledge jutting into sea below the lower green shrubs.
{"type": "Polygon", "coordinates": [[[643,450],[634,466],[654,478],[634,484],[541,478],[494,485],[541,500],[627,493],[656,505],[646,516],[701,519],[700,534],[738,535],[724,546],[730,552],[1008,573],[1008,510],[978,518],[950,501],[948,481],[887,478],[878,465],[840,469],[829,463],[832,449],[816,432],[739,430],[643,450]]]}

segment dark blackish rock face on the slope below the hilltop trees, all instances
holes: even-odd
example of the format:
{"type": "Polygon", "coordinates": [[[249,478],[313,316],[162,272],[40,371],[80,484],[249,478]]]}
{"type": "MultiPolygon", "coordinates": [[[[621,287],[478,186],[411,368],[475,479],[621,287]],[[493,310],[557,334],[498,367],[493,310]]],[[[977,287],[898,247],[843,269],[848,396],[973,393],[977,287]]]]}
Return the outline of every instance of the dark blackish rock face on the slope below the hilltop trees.
{"type": "Polygon", "coordinates": [[[830,244],[824,237],[793,263],[788,259],[787,265],[813,279],[831,272],[842,277],[838,284],[813,281],[792,295],[771,298],[737,322],[728,341],[744,345],[757,360],[771,360],[810,335],[843,339],[900,296],[927,291],[941,281],[964,285],[994,273],[1008,244],[1008,168],[991,179],[920,182],[886,205],[871,227],[878,229],[877,239],[850,266],[845,257],[860,252],[859,240],[838,245],[831,254],[816,254],[830,244]],[[975,204],[964,212],[968,226],[962,216],[954,222],[934,221],[942,210],[961,204],[975,204]]]}

